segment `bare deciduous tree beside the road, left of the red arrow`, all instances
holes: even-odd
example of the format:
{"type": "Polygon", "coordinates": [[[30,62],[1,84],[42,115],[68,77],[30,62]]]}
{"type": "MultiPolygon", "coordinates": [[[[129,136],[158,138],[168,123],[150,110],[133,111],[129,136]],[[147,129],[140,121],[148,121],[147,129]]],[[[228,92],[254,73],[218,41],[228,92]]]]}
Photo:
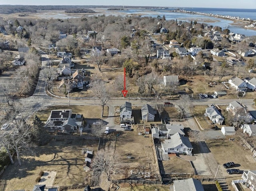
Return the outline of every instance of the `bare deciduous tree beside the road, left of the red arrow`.
{"type": "Polygon", "coordinates": [[[101,117],[103,117],[104,106],[107,104],[110,99],[110,92],[106,88],[106,83],[103,80],[97,79],[92,82],[92,92],[100,100],[99,105],[102,106],[101,117]]]}

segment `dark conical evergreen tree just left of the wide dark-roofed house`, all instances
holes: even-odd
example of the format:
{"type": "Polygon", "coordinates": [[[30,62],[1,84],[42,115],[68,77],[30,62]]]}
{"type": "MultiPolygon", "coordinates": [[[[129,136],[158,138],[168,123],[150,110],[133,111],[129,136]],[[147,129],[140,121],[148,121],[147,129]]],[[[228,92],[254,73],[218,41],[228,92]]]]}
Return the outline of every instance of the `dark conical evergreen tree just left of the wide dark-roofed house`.
{"type": "Polygon", "coordinates": [[[33,120],[31,140],[37,145],[45,145],[50,141],[50,135],[44,128],[44,123],[37,115],[33,120]]]}

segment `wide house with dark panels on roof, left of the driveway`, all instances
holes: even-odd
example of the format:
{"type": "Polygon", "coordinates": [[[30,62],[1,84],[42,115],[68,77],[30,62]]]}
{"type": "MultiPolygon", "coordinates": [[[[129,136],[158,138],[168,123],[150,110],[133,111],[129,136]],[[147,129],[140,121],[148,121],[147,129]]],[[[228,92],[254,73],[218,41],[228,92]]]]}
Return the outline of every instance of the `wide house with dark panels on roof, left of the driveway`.
{"type": "Polygon", "coordinates": [[[50,132],[66,130],[68,132],[78,132],[84,127],[84,117],[82,114],[72,114],[72,110],[52,110],[44,128],[50,132]]]}

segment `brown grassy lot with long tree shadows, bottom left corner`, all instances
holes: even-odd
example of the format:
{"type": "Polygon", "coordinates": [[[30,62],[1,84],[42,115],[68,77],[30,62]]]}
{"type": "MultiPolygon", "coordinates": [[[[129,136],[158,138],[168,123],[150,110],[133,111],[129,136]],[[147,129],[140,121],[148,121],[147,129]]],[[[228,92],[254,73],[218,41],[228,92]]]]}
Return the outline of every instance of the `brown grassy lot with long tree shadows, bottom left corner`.
{"type": "Polygon", "coordinates": [[[22,166],[9,165],[0,179],[0,190],[32,190],[40,171],[55,171],[53,185],[72,185],[86,182],[83,170],[82,148],[97,149],[97,141],[52,140],[46,146],[36,147],[30,157],[22,157],[22,166]],[[4,186],[4,183],[6,184],[4,186]]]}

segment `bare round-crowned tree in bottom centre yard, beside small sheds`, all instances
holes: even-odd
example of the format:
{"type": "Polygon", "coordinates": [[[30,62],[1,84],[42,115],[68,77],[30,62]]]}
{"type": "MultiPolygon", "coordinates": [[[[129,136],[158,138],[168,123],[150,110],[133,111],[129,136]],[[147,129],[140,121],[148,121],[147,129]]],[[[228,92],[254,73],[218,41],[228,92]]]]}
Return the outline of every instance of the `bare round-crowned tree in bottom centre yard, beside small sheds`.
{"type": "Polygon", "coordinates": [[[99,150],[91,163],[94,181],[99,181],[103,176],[106,177],[106,181],[118,177],[123,172],[122,163],[120,155],[114,151],[114,148],[99,150]]]}

